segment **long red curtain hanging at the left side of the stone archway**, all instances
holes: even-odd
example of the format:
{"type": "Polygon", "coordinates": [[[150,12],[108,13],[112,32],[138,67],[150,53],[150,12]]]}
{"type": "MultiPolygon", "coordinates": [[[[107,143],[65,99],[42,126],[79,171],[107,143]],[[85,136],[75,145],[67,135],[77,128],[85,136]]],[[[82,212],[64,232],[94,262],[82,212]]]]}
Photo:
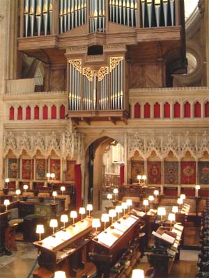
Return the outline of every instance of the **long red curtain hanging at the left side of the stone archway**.
{"type": "Polygon", "coordinates": [[[82,206],[82,170],[81,165],[77,164],[74,166],[75,172],[75,209],[79,210],[79,207],[82,206]]]}

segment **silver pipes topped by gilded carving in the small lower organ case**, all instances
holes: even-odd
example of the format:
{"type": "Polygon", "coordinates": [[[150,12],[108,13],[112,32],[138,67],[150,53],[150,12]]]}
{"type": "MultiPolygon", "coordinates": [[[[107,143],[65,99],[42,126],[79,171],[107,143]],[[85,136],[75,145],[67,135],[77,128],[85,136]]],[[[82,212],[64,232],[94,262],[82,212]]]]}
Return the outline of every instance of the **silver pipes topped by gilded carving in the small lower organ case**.
{"type": "Polygon", "coordinates": [[[110,57],[109,66],[82,67],[82,60],[69,63],[69,110],[123,110],[123,56],[110,57]]]}

